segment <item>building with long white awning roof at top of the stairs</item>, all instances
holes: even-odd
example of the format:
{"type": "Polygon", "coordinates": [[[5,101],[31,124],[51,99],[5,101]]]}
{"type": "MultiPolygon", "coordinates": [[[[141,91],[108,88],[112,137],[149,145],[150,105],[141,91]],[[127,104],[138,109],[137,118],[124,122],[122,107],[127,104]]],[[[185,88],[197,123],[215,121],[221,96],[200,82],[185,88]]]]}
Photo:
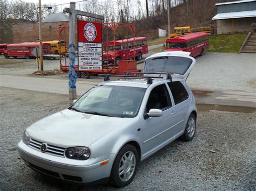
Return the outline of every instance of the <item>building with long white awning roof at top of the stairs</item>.
{"type": "Polygon", "coordinates": [[[256,22],[256,1],[234,1],[215,4],[218,14],[212,19],[217,26],[217,34],[243,33],[252,30],[256,22]]]}

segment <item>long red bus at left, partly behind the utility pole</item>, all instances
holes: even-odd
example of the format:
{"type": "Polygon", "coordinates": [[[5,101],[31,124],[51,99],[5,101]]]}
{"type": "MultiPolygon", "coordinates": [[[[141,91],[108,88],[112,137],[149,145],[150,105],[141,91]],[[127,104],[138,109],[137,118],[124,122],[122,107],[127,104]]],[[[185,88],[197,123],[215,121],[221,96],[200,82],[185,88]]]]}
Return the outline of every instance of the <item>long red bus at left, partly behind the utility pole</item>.
{"type": "MultiPolygon", "coordinates": [[[[35,47],[39,48],[39,43],[19,43],[7,45],[7,50],[4,53],[4,58],[8,59],[10,56],[17,58],[18,56],[30,59],[35,57],[32,51],[35,47]]],[[[43,54],[51,54],[51,44],[43,43],[43,54]]]]}

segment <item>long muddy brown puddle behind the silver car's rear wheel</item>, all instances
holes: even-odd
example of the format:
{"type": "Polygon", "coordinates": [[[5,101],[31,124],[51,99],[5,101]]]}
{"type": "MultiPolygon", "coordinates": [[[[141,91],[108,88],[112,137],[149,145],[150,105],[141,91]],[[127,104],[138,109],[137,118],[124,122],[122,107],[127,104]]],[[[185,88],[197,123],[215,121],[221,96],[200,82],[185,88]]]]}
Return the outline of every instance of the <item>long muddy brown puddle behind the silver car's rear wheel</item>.
{"type": "Polygon", "coordinates": [[[241,107],[233,105],[212,105],[212,104],[197,104],[198,111],[229,111],[229,112],[242,112],[242,113],[255,113],[256,108],[241,107]]]}

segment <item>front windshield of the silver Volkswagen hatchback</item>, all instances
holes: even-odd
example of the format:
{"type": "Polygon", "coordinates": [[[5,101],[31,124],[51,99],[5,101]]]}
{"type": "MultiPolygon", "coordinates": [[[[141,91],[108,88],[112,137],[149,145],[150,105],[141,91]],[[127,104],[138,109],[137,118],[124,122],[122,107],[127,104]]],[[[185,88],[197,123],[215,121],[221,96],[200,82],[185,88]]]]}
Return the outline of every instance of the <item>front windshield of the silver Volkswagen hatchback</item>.
{"type": "Polygon", "coordinates": [[[124,86],[95,86],[69,109],[87,114],[110,117],[135,117],[146,88],[124,86]]]}

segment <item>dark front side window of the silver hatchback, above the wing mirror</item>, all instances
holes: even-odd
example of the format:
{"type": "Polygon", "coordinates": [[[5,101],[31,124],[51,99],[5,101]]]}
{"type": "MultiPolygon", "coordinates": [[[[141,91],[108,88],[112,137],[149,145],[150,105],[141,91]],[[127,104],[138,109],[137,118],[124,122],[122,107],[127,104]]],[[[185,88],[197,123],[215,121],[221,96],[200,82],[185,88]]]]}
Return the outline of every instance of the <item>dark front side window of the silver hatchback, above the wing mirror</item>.
{"type": "Polygon", "coordinates": [[[165,110],[169,107],[171,107],[171,99],[165,84],[154,87],[149,100],[147,100],[146,112],[149,112],[150,109],[165,110]]]}

